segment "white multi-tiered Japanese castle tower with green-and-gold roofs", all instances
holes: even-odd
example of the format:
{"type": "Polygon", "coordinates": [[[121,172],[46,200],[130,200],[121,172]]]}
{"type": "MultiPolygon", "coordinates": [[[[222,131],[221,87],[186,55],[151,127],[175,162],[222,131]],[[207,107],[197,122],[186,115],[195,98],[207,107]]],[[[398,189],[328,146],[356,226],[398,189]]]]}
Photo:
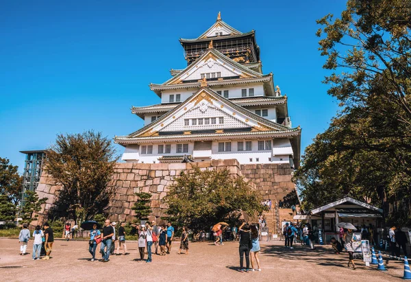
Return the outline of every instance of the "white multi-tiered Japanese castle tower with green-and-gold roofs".
{"type": "Polygon", "coordinates": [[[132,107],[145,126],[114,141],[127,163],[236,158],[240,164],[298,167],[301,128],[293,128],[287,97],[262,72],[256,32],[216,19],[194,39],[179,39],[187,67],[150,89],[160,104],[132,107]]]}

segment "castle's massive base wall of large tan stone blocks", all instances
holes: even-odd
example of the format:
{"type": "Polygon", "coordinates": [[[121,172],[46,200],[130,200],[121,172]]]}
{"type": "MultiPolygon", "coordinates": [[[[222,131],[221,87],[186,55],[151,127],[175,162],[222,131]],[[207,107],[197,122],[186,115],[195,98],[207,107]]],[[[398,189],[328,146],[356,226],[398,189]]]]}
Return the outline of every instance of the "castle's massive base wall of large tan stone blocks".
{"type": "MultiPolygon", "coordinates": [[[[153,213],[149,220],[161,222],[161,217],[166,215],[164,197],[173,185],[175,176],[182,171],[192,173],[193,166],[200,169],[228,169],[233,177],[245,176],[253,189],[260,191],[264,199],[281,200],[294,185],[291,183],[291,170],[287,165],[240,165],[236,159],[213,160],[199,163],[117,163],[110,187],[115,188],[114,197],[110,201],[108,212],[110,220],[132,221],[134,211],[132,206],[137,200],[134,193],[149,192],[152,194],[151,209],[153,213]]],[[[46,204],[40,211],[40,219],[45,220],[47,213],[53,207],[58,197],[60,185],[43,172],[37,193],[40,198],[47,197],[46,204]]]]}

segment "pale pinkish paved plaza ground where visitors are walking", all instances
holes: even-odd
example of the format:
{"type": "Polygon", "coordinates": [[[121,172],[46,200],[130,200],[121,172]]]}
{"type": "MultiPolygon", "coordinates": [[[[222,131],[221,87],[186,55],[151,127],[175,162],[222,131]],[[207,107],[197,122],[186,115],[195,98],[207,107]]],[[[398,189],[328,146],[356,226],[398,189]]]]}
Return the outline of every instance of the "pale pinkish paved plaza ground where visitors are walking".
{"type": "MultiPolygon", "coordinates": [[[[134,261],[136,242],[127,244],[128,256],[112,256],[108,263],[90,261],[88,242],[56,241],[52,259],[32,261],[32,242],[20,256],[16,239],[0,239],[1,281],[400,281],[401,261],[386,261],[388,271],[366,267],[347,268],[347,254],[334,255],[329,246],[310,251],[303,246],[286,249],[282,242],[262,244],[262,272],[240,273],[238,242],[214,246],[207,242],[190,244],[189,255],[177,255],[179,244],[166,257],[153,256],[152,263],[134,261]],[[15,266],[18,268],[4,268],[15,266]],[[284,277],[288,277],[284,279],[284,277]],[[163,278],[163,279],[162,279],[163,278]],[[39,280],[40,279],[40,280],[39,280]]],[[[99,256],[100,257],[100,256],[99,256]]]]}

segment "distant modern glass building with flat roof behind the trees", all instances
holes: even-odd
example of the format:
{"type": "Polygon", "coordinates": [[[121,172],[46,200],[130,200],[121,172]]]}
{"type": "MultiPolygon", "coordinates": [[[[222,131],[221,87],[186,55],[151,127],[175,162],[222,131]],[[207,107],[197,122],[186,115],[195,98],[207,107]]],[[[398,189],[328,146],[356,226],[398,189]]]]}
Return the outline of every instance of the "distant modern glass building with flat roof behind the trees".
{"type": "Polygon", "coordinates": [[[23,207],[25,204],[26,191],[36,191],[38,183],[40,182],[42,166],[46,160],[47,151],[32,150],[20,152],[26,154],[23,170],[23,187],[21,196],[21,204],[23,207]]]}

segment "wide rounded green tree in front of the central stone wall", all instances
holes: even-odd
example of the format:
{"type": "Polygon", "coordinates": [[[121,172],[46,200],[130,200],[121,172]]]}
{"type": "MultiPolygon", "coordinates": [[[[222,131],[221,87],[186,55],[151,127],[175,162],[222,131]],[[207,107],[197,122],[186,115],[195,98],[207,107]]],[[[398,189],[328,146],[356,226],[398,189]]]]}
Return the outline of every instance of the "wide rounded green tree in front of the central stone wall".
{"type": "Polygon", "coordinates": [[[237,223],[242,211],[253,215],[264,210],[258,193],[243,178],[230,177],[227,169],[182,172],[164,200],[169,220],[195,233],[224,220],[237,223]]]}

